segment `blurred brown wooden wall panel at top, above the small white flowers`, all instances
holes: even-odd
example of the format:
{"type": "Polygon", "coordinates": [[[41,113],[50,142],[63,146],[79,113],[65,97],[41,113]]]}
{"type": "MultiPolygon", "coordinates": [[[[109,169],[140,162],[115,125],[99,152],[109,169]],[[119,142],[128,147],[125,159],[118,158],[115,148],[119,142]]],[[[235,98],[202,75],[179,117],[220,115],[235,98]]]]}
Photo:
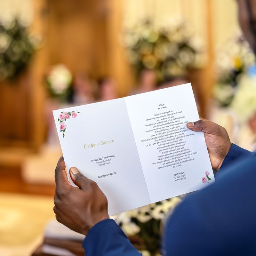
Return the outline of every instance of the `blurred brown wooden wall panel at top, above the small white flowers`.
{"type": "Polygon", "coordinates": [[[105,32],[101,1],[49,1],[50,64],[94,77],[107,73],[105,32]]]}

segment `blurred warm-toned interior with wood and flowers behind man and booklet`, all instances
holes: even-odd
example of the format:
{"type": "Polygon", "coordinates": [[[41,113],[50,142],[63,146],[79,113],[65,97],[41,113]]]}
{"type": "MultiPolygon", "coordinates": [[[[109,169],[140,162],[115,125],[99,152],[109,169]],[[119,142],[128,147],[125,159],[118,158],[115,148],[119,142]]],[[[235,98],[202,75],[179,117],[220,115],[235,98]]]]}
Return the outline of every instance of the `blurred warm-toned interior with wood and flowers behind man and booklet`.
{"type": "MultiPolygon", "coordinates": [[[[83,255],[61,245],[60,234],[80,236],[49,222],[61,156],[53,109],[187,82],[200,116],[256,148],[256,66],[236,1],[0,0],[0,255],[83,255]]],[[[152,248],[141,223],[159,224],[178,202],[144,209],[151,219],[137,228],[123,223],[144,255],[157,255],[159,237],[152,248]]]]}

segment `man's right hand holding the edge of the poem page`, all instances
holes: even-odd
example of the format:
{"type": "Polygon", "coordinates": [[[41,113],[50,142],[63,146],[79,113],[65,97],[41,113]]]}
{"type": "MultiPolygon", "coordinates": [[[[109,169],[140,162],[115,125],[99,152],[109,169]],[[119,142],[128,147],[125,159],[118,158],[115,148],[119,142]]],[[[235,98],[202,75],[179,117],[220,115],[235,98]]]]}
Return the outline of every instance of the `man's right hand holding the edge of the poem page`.
{"type": "Polygon", "coordinates": [[[219,170],[231,147],[231,142],[226,129],[206,119],[188,123],[187,127],[195,132],[204,132],[204,139],[209,152],[212,168],[219,170]]]}

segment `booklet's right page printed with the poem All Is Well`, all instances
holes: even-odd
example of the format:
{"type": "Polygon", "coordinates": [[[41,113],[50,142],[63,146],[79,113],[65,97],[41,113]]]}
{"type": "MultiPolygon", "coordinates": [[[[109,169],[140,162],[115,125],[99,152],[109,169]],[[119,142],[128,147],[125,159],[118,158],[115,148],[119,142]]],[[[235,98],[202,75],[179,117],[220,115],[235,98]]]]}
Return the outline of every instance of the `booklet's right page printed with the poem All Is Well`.
{"type": "Polygon", "coordinates": [[[204,133],[186,126],[199,119],[191,84],[125,97],[125,103],[151,203],[214,182],[204,133]]]}

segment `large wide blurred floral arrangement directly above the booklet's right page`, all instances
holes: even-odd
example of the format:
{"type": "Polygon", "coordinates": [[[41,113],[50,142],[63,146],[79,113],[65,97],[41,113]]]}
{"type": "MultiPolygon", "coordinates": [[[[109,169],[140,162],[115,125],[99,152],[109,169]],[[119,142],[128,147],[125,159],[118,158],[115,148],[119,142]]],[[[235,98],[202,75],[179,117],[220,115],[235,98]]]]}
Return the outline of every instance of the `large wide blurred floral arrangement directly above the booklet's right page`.
{"type": "Polygon", "coordinates": [[[155,28],[147,20],[126,28],[123,42],[137,74],[144,68],[154,69],[159,81],[186,75],[188,68],[200,66],[202,60],[202,44],[184,23],[155,28]]]}

